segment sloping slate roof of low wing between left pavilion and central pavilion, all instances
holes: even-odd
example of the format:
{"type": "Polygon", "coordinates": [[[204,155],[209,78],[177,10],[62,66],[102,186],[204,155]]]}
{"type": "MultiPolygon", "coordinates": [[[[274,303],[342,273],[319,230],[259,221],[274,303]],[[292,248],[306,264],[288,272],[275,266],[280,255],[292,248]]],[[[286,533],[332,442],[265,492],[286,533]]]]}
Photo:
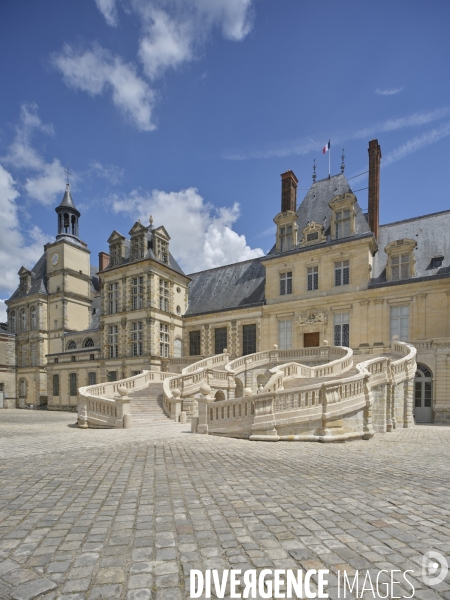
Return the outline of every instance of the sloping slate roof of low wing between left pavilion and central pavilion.
{"type": "Polygon", "coordinates": [[[264,304],[266,269],[260,258],[189,275],[185,316],[264,304]]]}

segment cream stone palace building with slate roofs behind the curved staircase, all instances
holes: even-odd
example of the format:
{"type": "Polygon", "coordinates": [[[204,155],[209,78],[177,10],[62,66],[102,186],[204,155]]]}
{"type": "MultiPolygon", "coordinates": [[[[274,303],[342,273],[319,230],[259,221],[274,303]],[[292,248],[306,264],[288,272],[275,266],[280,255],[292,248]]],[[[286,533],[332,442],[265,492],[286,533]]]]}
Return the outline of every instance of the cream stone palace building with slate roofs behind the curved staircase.
{"type": "Polygon", "coordinates": [[[372,140],[366,214],[343,167],[313,177],[300,203],[295,174],[283,173],[271,251],[189,275],[170,252],[170,223],[151,218],[129,237],[113,231],[92,266],[67,184],[55,241],[20,269],[7,301],[5,406],[73,410],[81,386],[174,372],[224,348],[235,358],[327,340],[376,355],[395,335],[417,348],[416,422],[449,422],[450,211],[380,225],[380,163],[372,140]]]}

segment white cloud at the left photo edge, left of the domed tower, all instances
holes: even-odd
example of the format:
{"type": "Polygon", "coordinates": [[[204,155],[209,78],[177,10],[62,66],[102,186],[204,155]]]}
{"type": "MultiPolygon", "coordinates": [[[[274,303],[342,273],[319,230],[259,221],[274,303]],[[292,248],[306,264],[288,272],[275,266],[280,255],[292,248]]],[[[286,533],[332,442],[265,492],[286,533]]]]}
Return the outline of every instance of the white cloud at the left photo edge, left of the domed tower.
{"type": "MultiPolygon", "coordinates": [[[[32,268],[43,253],[43,244],[50,241],[38,227],[23,233],[16,203],[19,192],[11,174],[0,165],[0,264],[2,277],[0,294],[10,295],[17,287],[17,272],[22,265],[32,268]]],[[[0,303],[0,321],[6,319],[6,306],[0,303]]]]}

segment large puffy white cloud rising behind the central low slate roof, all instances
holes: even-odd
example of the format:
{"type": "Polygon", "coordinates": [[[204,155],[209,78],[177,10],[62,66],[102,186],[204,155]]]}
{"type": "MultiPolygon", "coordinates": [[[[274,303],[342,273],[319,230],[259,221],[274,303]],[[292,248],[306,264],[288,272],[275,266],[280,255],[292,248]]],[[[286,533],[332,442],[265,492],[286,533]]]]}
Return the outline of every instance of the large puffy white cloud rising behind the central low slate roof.
{"type": "Polygon", "coordinates": [[[239,205],[214,208],[195,188],[179,192],[134,190],[128,196],[111,197],[116,213],[140,217],[152,214],[156,227],[164,225],[171,236],[170,251],[182,268],[191,273],[263,256],[250,248],[244,235],[233,231],[239,205]]]}

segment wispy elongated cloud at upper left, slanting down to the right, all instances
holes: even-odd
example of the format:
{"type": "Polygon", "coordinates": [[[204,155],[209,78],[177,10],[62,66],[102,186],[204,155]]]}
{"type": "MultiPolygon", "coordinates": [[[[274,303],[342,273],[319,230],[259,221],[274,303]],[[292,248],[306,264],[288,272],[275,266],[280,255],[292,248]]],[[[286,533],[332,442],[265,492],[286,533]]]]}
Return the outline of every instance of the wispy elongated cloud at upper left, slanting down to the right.
{"type": "Polygon", "coordinates": [[[132,63],[95,45],[91,50],[77,51],[66,44],[60,54],[52,58],[53,64],[63,74],[68,87],[82,90],[92,96],[108,91],[124,116],[141,131],[152,131],[155,94],[137,75],[132,63]]]}

